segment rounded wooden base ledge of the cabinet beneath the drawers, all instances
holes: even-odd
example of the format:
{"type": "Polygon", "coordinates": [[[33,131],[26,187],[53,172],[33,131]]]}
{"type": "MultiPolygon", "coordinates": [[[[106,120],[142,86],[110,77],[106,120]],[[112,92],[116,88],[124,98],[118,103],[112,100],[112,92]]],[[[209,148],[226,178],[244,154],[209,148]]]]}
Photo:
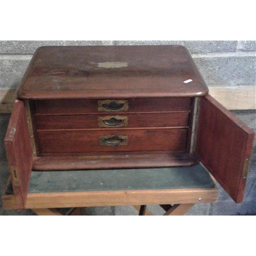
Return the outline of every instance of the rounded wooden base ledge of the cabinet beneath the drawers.
{"type": "MultiPolygon", "coordinates": [[[[102,154],[102,153],[101,153],[102,154]]],[[[59,154],[60,155],[60,154],[59,154]]],[[[84,153],[83,153],[84,155],[84,153]]],[[[96,156],[58,156],[43,155],[33,161],[33,170],[85,170],[112,168],[151,168],[170,166],[191,166],[198,163],[198,159],[191,154],[175,154],[174,152],[115,152],[115,155],[96,156]],[[118,155],[122,153],[122,155],[118,155]],[[135,154],[137,153],[137,155],[135,154]],[[147,153],[147,154],[146,154],[147,153]],[[150,153],[150,154],[148,154],[150,153]]]]}

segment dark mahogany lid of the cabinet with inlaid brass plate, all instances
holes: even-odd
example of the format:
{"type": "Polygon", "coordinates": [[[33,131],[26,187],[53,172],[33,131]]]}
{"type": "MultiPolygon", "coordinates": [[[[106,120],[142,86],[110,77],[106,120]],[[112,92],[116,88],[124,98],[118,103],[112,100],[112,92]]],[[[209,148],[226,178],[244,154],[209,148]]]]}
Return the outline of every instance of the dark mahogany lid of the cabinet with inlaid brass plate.
{"type": "Polygon", "coordinates": [[[207,93],[183,46],[48,46],[33,55],[17,97],[200,97],[207,93]]]}

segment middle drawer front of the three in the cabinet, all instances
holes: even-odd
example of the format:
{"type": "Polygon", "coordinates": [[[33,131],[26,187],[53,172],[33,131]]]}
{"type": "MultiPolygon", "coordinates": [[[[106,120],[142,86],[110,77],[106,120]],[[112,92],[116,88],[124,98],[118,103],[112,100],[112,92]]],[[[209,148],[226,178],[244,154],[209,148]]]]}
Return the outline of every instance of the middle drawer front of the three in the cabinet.
{"type": "Polygon", "coordinates": [[[189,113],[36,116],[38,130],[187,126],[189,113]]]}

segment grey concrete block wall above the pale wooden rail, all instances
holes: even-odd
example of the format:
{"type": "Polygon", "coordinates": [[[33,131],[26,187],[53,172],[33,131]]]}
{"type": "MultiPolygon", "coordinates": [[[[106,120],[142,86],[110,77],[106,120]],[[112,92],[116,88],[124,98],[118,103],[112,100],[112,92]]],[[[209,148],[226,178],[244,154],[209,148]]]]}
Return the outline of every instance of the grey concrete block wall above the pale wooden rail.
{"type": "Polygon", "coordinates": [[[255,41],[0,41],[0,89],[16,89],[40,46],[184,45],[209,87],[255,86],[255,41]]]}

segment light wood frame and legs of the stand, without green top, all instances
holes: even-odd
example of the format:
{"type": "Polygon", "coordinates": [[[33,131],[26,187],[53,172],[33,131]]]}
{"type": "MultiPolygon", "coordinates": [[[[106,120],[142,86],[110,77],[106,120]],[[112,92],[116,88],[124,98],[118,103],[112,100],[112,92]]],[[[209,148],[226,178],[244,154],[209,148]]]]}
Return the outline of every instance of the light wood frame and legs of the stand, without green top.
{"type": "MultiPolygon", "coordinates": [[[[14,195],[4,194],[2,199],[5,209],[16,209],[14,195]]],[[[215,203],[217,201],[218,188],[215,185],[214,188],[29,193],[25,208],[33,209],[43,215],[48,212],[47,215],[50,215],[48,210],[41,209],[133,205],[140,211],[141,205],[168,204],[173,207],[167,209],[164,215],[184,215],[196,203],[215,203]]],[[[152,215],[146,210],[146,207],[144,208],[141,215],[152,215]]],[[[52,213],[54,214],[54,212],[52,213]]]]}

